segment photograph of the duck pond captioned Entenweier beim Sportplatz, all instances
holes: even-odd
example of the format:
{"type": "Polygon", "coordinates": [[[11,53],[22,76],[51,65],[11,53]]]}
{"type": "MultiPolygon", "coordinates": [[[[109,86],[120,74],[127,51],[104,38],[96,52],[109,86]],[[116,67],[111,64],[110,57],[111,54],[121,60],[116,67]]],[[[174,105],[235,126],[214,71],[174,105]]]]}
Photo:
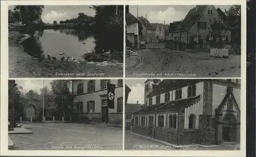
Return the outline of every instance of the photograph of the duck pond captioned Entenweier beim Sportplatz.
{"type": "Polygon", "coordinates": [[[122,77],[123,8],[9,6],[9,77],[122,77]]]}

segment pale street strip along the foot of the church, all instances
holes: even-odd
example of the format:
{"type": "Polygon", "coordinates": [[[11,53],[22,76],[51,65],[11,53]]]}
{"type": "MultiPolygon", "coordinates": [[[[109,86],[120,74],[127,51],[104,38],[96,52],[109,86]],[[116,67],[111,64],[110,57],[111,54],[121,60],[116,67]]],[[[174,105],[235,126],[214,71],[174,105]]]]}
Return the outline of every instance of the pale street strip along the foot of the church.
{"type": "Polygon", "coordinates": [[[199,146],[179,146],[175,148],[167,144],[160,143],[156,140],[147,139],[130,131],[125,132],[124,149],[125,150],[233,150],[236,146],[215,146],[215,147],[199,147],[199,146]]]}

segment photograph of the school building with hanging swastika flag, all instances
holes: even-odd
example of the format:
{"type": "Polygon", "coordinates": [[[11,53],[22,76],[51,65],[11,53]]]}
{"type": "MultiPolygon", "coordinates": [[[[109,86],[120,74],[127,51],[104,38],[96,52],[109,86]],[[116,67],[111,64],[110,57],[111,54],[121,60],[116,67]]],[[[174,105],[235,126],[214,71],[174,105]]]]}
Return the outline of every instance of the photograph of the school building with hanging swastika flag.
{"type": "Polygon", "coordinates": [[[122,79],[9,80],[8,87],[9,150],[122,150],[122,79]]]}

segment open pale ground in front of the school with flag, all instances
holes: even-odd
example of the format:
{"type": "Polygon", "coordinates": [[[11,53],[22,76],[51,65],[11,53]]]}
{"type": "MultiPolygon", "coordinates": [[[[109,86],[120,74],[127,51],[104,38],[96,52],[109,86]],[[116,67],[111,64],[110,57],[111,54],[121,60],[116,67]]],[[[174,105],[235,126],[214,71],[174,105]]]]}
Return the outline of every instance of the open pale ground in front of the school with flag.
{"type": "MultiPolygon", "coordinates": [[[[27,124],[26,124],[27,125],[27,124]]],[[[29,123],[33,134],[9,134],[14,150],[121,150],[122,128],[77,123],[29,123]]]]}

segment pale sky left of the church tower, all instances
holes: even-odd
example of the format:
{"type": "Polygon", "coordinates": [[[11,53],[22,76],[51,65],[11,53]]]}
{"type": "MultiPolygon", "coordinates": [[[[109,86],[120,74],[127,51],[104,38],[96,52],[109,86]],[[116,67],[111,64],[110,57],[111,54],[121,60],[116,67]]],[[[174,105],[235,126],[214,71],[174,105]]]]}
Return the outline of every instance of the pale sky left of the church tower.
{"type": "Polygon", "coordinates": [[[125,80],[125,84],[131,88],[127,103],[144,104],[144,82],[146,79],[125,80]]]}

